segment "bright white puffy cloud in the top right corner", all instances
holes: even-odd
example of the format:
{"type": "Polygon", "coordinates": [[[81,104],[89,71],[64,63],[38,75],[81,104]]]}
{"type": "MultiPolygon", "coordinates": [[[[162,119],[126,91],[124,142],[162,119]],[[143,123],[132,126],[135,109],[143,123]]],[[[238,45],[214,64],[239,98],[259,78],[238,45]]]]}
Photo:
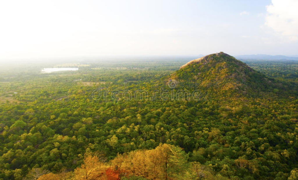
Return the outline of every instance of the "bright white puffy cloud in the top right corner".
{"type": "Polygon", "coordinates": [[[288,41],[298,41],[298,0],[272,0],[265,25],[288,41]]]}

